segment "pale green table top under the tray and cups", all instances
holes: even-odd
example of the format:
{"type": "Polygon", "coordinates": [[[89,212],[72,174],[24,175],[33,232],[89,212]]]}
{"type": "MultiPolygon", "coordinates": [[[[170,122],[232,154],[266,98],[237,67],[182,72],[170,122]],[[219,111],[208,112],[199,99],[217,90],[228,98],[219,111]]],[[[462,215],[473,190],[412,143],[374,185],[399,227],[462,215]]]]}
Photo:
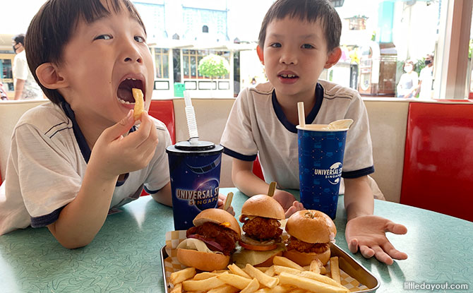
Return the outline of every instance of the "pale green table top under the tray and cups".
{"type": "MultiPolygon", "coordinates": [[[[220,189],[229,191],[235,193],[238,216],[246,196],[220,189]]],[[[375,201],[375,214],[409,230],[388,235],[409,255],[406,261],[389,266],[353,255],[381,281],[376,292],[411,291],[404,289],[405,282],[468,284],[467,290],[435,292],[473,292],[472,222],[387,201],[375,201]]],[[[336,241],[349,253],[345,224],[340,196],[336,241]]],[[[80,249],[65,249],[47,228],[11,232],[0,237],[0,292],[164,292],[160,249],[164,234],[173,229],[172,208],[144,196],[109,215],[92,243],[80,249]]]]}

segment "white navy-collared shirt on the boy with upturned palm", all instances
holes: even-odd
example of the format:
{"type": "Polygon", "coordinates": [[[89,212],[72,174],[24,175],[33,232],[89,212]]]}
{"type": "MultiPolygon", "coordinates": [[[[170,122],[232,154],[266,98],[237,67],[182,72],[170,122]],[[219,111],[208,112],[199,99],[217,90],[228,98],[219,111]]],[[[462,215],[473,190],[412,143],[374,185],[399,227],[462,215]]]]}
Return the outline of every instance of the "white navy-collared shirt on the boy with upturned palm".
{"type": "MultiPolygon", "coordinates": [[[[306,124],[347,118],[354,123],[347,132],[342,177],[371,174],[374,167],[368,115],[359,93],[319,80],[316,104],[306,124]]],[[[258,155],[265,181],[276,181],[280,189],[299,189],[297,129],[282,112],[270,83],[240,92],[220,143],[224,153],[239,160],[253,161],[258,155]]]]}

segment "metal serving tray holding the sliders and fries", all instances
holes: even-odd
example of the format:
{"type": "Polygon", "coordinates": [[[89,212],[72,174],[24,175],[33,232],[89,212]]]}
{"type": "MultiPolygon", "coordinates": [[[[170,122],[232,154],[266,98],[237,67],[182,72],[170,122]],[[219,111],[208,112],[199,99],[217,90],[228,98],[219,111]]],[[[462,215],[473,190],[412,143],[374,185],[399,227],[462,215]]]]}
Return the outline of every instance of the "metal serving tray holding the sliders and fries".
{"type": "MultiPolygon", "coordinates": [[[[349,256],[348,253],[342,251],[337,244],[332,243],[330,246],[330,251],[332,256],[338,256],[338,265],[340,269],[344,270],[345,273],[357,279],[361,284],[365,285],[369,289],[357,291],[357,293],[369,293],[376,292],[376,289],[379,287],[379,280],[375,277],[369,270],[366,270],[363,265],[357,262],[352,256],[349,256]]],[[[162,265],[162,277],[164,279],[164,292],[168,293],[171,289],[169,285],[169,280],[167,280],[166,272],[164,270],[164,259],[168,257],[166,252],[166,246],[161,248],[161,265],[162,265]]]]}

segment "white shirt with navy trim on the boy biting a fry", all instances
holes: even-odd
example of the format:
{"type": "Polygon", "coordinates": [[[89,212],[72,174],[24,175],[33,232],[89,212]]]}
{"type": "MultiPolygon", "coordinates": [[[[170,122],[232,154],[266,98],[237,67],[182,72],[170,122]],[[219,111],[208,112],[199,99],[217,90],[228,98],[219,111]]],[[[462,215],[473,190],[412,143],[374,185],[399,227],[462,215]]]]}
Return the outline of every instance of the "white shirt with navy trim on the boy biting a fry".
{"type": "MultiPolygon", "coordinates": [[[[6,178],[0,186],[0,235],[29,225],[50,225],[76,198],[90,148],[69,105],[64,102],[61,107],[49,102],[30,109],[13,130],[6,178]]],[[[148,167],[116,182],[111,210],[137,199],[143,184],[156,193],[169,182],[165,150],[172,141],[166,126],[152,120],[160,141],[155,155],[148,167]]]]}

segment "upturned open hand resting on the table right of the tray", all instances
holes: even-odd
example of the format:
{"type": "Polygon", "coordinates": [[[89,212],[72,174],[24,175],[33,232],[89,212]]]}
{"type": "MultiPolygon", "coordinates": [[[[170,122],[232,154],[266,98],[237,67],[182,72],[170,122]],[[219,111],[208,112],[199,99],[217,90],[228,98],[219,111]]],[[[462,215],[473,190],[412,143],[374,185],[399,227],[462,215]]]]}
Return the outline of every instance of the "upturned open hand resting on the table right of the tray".
{"type": "Polygon", "coordinates": [[[378,261],[388,265],[393,264],[393,258],[406,259],[407,254],[395,249],[386,238],[385,232],[406,234],[407,228],[376,215],[355,217],[347,222],[345,229],[348,249],[352,253],[359,250],[365,258],[375,256],[378,261]]]}

